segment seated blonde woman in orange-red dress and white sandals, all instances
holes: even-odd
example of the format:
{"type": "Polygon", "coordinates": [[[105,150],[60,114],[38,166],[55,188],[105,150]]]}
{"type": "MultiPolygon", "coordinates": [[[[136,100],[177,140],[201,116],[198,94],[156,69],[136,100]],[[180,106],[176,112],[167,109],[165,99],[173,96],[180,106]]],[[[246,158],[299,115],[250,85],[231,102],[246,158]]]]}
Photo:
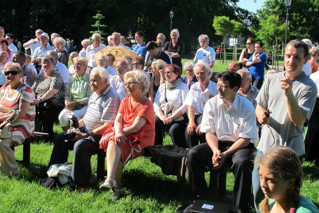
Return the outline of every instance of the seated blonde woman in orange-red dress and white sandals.
{"type": "Polygon", "coordinates": [[[123,166],[128,160],[144,154],[144,148],[153,146],[155,138],[153,104],[144,96],[150,86],[147,76],[139,70],[127,72],[124,75],[124,85],[130,96],[121,102],[114,129],[108,129],[110,133],[105,133],[100,140],[100,148],[106,149],[108,167],[107,179],[100,189],[112,189],[114,193],[111,198],[114,200],[118,200],[123,194],[123,166]],[[128,140],[135,137],[139,139],[128,140]]]}

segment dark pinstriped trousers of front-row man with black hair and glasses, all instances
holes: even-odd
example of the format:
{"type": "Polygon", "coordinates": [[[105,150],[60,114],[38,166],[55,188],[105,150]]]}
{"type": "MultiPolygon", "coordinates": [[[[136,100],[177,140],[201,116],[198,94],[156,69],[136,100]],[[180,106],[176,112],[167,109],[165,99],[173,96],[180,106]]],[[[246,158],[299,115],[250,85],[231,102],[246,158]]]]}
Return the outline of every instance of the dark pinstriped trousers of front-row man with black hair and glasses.
{"type": "MultiPolygon", "coordinates": [[[[219,142],[219,150],[225,152],[231,144],[232,142],[219,142]]],[[[225,161],[227,165],[231,165],[234,174],[233,207],[238,213],[249,212],[248,203],[251,199],[253,152],[254,144],[250,143],[225,161]]],[[[199,195],[200,199],[205,199],[209,195],[205,172],[213,169],[212,156],[213,152],[207,143],[194,146],[187,155],[189,179],[193,186],[193,193],[199,195]]]]}

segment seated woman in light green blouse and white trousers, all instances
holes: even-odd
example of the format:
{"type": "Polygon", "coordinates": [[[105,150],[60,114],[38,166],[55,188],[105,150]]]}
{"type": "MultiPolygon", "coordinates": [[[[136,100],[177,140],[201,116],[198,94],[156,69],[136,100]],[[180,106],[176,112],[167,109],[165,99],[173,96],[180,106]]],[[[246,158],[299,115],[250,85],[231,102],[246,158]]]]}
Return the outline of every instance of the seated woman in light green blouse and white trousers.
{"type": "Polygon", "coordinates": [[[59,115],[60,126],[63,131],[67,131],[70,128],[69,115],[71,113],[78,120],[84,117],[87,103],[92,94],[90,76],[85,72],[88,60],[84,57],[76,57],[73,61],[76,75],[72,75],[69,78],[64,96],[65,108],[59,115]]]}

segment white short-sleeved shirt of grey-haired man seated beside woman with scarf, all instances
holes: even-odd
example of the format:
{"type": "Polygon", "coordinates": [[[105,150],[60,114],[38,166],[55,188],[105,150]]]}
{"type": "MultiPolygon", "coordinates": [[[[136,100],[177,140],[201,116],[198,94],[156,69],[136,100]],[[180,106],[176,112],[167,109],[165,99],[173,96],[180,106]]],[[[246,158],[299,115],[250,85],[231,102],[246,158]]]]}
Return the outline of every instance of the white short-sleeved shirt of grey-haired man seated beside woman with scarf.
{"type": "Polygon", "coordinates": [[[195,115],[203,115],[205,103],[218,95],[217,87],[214,82],[209,81],[207,88],[202,91],[199,82],[194,83],[186,96],[185,105],[195,107],[195,115]]]}

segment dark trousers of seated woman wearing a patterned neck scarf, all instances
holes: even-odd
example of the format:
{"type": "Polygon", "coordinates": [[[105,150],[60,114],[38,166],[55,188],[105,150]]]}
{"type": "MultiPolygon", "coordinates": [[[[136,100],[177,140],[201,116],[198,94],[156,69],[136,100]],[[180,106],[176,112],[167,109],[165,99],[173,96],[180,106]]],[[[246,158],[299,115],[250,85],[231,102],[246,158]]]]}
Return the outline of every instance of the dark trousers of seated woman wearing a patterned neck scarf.
{"type": "MultiPolygon", "coordinates": [[[[181,120],[181,121],[173,121],[170,125],[169,125],[169,134],[172,138],[173,144],[178,146],[178,147],[182,147],[182,148],[186,148],[185,146],[185,127],[187,124],[187,120],[181,120]]],[[[163,145],[163,133],[162,130],[166,127],[167,125],[165,125],[163,123],[163,121],[161,119],[159,119],[159,117],[157,115],[155,115],[155,145],[163,145]]]]}

